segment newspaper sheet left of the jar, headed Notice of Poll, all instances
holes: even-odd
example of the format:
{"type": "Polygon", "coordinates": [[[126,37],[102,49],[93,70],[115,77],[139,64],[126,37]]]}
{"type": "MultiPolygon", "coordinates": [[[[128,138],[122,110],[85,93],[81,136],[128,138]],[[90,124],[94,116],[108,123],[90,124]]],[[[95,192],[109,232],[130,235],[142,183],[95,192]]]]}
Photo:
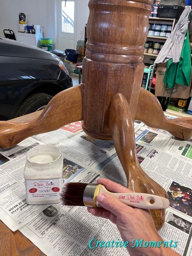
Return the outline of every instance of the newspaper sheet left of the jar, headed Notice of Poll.
{"type": "Polygon", "coordinates": [[[0,219],[12,231],[23,226],[46,208],[45,205],[26,203],[23,177],[26,153],[38,144],[41,142],[30,138],[11,149],[0,151],[0,219]]]}

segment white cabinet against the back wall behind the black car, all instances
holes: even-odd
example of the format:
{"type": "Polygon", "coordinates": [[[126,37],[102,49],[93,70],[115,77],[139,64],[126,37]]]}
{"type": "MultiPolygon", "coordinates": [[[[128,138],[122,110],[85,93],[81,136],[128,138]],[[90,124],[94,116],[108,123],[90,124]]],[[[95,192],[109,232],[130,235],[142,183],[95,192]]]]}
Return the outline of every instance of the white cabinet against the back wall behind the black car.
{"type": "Polygon", "coordinates": [[[38,34],[28,34],[28,33],[16,33],[16,39],[18,42],[21,43],[26,43],[28,45],[40,47],[41,46],[41,41],[40,38],[43,38],[43,34],[38,33],[38,34]]]}

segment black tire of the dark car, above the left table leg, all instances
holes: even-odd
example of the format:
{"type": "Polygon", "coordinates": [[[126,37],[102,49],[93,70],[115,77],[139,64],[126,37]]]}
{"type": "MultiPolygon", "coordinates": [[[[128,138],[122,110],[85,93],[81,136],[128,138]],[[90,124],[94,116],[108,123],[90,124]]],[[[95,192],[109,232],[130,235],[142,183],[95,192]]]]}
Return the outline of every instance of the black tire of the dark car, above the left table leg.
{"type": "Polygon", "coordinates": [[[43,106],[46,106],[48,102],[53,98],[53,96],[45,93],[36,93],[26,98],[15,114],[15,117],[19,117],[21,115],[27,115],[29,113],[35,112],[39,109],[43,109],[43,106]]]}

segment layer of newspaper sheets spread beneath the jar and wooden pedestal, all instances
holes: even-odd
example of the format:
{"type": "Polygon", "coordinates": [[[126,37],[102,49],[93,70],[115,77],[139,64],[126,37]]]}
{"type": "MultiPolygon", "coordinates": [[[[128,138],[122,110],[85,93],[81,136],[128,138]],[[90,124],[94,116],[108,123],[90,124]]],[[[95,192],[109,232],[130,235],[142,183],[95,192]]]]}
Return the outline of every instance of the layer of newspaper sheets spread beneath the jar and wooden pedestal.
{"type": "MultiPolygon", "coordinates": [[[[165,241],[177,240],[174,250],[179,254],[192,256],[192,141],[177,140],[168,132],[151,129],[137,121],[134,128],[137,157],[143,170],[169,194],[170,207],[166,210],[166,222],[160,235],[165,241]]],[[[87,136],[81,129],[81,123],[75,122],[55,132],[36,135],[13,149],[0,152],[0,171],[6,184],[0,201],[3,210],[1,220],[11,230],[19,228],[23,235],[48,256],[53,253],[81,256],[128,255],[125,248],[90,250],[88,242],[92,238],[109,241],[121,237],[115,225],[92,216],[86,207],[23,205],[25,154],[36,143],[57,145],[62,150],[64,183],[92,183],[98,177],[107,177],[126,186],[126,176],[113,142],[87,136]],[[12,201],[9,198],[13,198],[12,201]],[[20,210],[20,205],[26,208],[21,206],[20,210]],[[54,210],[54,216],[47,214],[48,208],[54,210]]]]}

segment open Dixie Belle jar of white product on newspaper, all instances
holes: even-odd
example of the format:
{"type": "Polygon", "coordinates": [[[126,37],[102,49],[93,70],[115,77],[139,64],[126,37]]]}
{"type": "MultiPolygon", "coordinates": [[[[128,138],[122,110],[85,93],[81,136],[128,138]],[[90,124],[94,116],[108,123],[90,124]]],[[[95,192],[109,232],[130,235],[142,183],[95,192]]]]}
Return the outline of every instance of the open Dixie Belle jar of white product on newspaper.
{"type": "Polygon", "coordinates": [[[59,203],[63,171],[60,149],[52,145],[38,145],[28,151],[26,158],[24,179],[27,203],[59,203]]]}

